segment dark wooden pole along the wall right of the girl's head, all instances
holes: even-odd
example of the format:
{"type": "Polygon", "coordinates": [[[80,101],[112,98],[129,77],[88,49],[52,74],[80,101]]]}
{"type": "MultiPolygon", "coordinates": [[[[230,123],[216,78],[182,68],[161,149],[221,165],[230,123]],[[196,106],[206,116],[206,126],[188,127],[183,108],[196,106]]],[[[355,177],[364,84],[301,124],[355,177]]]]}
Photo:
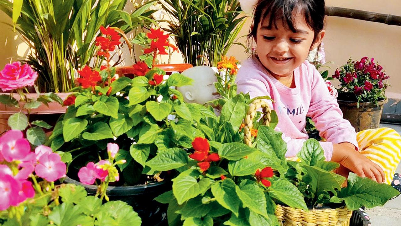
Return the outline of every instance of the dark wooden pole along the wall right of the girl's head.
{"type": "Polygon", "coordinates": [[[363,10],[356,10],[350,8],[340,8],[334,6],[326,6],[327,16],[340,16],[352,18],[363,21],[373,21],[377,23],[384,23],[387,25],[401,26],[401,16],[391,14],[382,14],[377,12],[368,12],[363,10]]]}

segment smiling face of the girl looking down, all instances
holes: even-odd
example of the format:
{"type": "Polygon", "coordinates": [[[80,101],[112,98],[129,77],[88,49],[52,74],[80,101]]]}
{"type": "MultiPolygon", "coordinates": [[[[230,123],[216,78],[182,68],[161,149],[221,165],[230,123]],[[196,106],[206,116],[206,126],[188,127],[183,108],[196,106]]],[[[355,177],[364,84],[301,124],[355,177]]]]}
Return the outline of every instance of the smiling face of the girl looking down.
{"type": "Polygon", "coordinates": [[[323,30],[312,46],[314,31],[306,23],[303,14],[296,13],[294,16],[296,33],[284,26],[282,20],[276,21],[277,29],[274,25],[268,29],[268,17],[257,28],[257,55],[263,66],[277,79],[292,76],[294,69],[308,58],[310,49],[316,48],[324,36],[323,30]]]}

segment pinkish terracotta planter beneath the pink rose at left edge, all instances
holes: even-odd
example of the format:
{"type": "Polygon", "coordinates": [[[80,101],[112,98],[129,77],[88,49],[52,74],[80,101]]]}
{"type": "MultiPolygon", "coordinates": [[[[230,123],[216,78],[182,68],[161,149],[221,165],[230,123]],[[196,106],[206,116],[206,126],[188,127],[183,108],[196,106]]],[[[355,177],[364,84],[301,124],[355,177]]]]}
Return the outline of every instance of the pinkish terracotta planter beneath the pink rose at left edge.
{"type": "MultiPolygon", "coordinates": [[[[10,93],[0,93],[0,95],[5,94],[5,95],[10,95],[10,93]]],[[[69,92],[61,92],[57,93],[57,95],[62,99],[65,100],[68,95],[71,93],[69,92]]],[[[40,94],[41,95],[41,94],[40,94]]],[[[38,97],[38,94],[36,93],[30,93],[27,94],[28,98],[36,99],[38,97]]],[[[13,93],[12,97],[17,99],[17,101],[20,100],[20,95],[13,93]]],[[[23,106],[23,103],[19,103],[20,107],[23,106]]],[[[43,120],[50,125],[55,125],[57,119],[60,117],[61,114],[65,113],[67,110],[67,106],[62,106],[57,102],[51,102],[49,103],[49,107],[46,105],[42,104],[40,107],[36,109],[32,109],[30,112],[30,121],[35,121],[35,120],[43,120]]],[[[20,109],[17,107],[9,107],[3,104],[0,104],[0,134],[3,133],[4,131],[10,129],[7,125],[7,120],[8,117],[10,117],[14,113],[20,112],[20,109]]],[[[24,110],[26,113],[26,110],[24,110]]]]}

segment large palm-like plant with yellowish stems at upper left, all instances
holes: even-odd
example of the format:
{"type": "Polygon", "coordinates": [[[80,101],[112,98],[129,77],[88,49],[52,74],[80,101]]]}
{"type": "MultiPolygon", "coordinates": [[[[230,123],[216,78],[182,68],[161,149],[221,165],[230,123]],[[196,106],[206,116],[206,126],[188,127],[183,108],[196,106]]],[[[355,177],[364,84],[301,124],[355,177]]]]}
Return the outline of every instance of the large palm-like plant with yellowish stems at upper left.
{"type": "Polygon", "coordinates": [[[74,72],[95,55],[99,27],[123,32],[150,23],[154,1],[132,14],[127,0],[0,0],[0,10],[13,18],[15,29],[32,48],[26,63],[39,74],[41,92],[67,92],[74,87],[74,72]]]}

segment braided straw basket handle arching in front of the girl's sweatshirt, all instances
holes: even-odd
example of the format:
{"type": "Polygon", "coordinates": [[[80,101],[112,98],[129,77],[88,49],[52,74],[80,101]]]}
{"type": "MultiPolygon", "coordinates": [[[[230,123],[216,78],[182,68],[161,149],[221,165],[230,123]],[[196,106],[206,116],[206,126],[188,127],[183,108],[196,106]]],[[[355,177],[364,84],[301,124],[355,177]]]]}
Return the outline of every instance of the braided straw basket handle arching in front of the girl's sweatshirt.
{"type": "Polygon", "coordinates": [[[269,105],[263,100],[255,100],[249,105],[249,110],[247,115],[245,116],[245,127],[244,127],[244,142],[248,146],[252,146],[252,135],[251,135],[251,129],[253,128],[253,119],[255,118],[255,114],[257,109],[262,108],[263,111],[263,117],[260,119],[262,125],[270,125],[270,114],[271,114],[271,109],[269,105]]]}

